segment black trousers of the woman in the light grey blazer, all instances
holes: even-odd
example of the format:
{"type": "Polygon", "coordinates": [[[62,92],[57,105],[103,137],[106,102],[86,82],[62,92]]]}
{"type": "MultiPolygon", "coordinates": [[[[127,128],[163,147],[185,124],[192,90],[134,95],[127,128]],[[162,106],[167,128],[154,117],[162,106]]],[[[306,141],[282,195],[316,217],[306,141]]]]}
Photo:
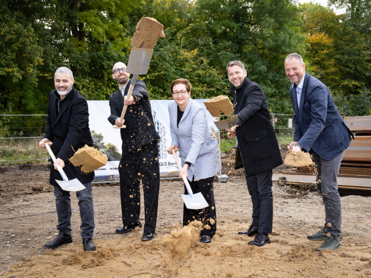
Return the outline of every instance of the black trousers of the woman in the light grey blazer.
{"type": "MultiPolygon", "coordinates": [[[[199,220],[202,222],[203,227],[208,225],[210,229],[203,228],[201,231],[201,236],[206,235],[213,237],[217,230],[217,210],[215,208],[214,199],[214,177],[206,178],[198,181],[190,182],[192,192],[201,192],[202,196],[205,198],[208,207],[203,209],[188,209],[185,204],[183,204],[183,226],[187,226],[193,220],[199,220]],[[210,218],[211,224],[210,223],[210,218]]],[[[186,187],[184,186],[184,194],[188,194],[186,187]]],[[[207,227],[207,226],[206,226],[207,227]]],[[[208,227],[207,227],[208,228],[208,227]]]]}

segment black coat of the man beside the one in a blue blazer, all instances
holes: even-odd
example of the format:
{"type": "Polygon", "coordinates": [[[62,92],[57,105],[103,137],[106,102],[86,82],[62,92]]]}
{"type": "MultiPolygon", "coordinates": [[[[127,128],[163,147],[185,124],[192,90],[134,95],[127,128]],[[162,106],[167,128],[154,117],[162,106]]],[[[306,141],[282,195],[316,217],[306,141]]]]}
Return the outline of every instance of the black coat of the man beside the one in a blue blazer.
{"type": "MultiPolygon", "coordinates": [[[[241,88],[233,86],[229,90],[233,92],[234,115],[239,118],[236,136],[246,175],[281,165],[282,157],[263,90],[247,77],[241,88]]],[[[236,169],[241,167],[236,163],[236,169]]]]}

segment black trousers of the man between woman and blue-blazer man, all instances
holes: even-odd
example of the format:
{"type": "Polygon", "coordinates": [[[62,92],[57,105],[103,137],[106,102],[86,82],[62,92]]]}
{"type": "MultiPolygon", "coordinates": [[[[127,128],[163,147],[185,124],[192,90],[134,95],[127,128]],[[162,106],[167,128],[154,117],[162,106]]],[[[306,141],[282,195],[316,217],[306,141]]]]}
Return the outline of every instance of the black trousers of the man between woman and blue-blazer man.
{"type": "Polygon", "coordinates": [[[252,202],[252,226],[258,227],[259,233],[272,233],[273,194],[272,170],[246,176],[247,189],[252,202]]]}

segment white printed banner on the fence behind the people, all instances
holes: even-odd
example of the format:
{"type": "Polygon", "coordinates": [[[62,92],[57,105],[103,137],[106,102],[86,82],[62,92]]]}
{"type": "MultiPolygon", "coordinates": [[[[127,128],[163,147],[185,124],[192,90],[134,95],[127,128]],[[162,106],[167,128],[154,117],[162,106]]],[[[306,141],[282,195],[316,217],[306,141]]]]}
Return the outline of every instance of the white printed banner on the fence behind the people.
{"type": "MultiPolygon", "coordinates": [[[[203,104],[205,100],[207,99],[196,99],[206,111],[209,126],[213,131],[218,132],[214,124],[217,118],[212,117],[206,110],[203,104]]],[[[161,137],[161,142],[158,144],[161,174],[178,171],[174,157],[166,152],[166,149],[171,145],[168,105],[172,101],[174,100],[151,100],[154,125],[161,137]]],[[[121,157],[122,141],[120,129],[113,128],[108,121],[108,117],[111,115],[109,101],[88,100],[88,105],[89,125],[94,144],[98,145],[100,151],[109,157],[108,163],[95,171],[94,180],[118,179],[118,165],[121,157]]]]}

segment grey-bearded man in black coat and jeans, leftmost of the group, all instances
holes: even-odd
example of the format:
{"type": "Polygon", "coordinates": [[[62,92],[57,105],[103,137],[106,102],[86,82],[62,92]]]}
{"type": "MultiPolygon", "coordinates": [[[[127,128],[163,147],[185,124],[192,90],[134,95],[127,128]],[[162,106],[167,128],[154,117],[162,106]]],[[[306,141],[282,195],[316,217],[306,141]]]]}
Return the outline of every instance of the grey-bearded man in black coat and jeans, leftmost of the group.
{"type": "MultiPolygon", "coordinates": [[[[69,179],[77,178],[85,189],[76,192],[81,217],[81,237],[85,251],[95,251],[92,242],[94,231],[94,209],[91,181],[94,172],[84,174],[76,168],[69,158],[75,151],[85,145],[93,146],[89,129],[89,112],[87,101],[73,88],[73,74],[69,68],[58,68],[54,74],[56,90],[49,93],[47,126],[44,138],[39,146],[44,149],[45,143],[52,142],[51,150],[56,162],[50,166],[50,184],[54,186],[58,216],[59,235],[46,243],[45,248],[56,248],[72,242],[71,236],[71,200],[70,192],[63,190],[56,179],[62,180],[57,165],[60,165],[69,179]]],[[[53,163],[53,162],[51,162],[53,163]]]]}

